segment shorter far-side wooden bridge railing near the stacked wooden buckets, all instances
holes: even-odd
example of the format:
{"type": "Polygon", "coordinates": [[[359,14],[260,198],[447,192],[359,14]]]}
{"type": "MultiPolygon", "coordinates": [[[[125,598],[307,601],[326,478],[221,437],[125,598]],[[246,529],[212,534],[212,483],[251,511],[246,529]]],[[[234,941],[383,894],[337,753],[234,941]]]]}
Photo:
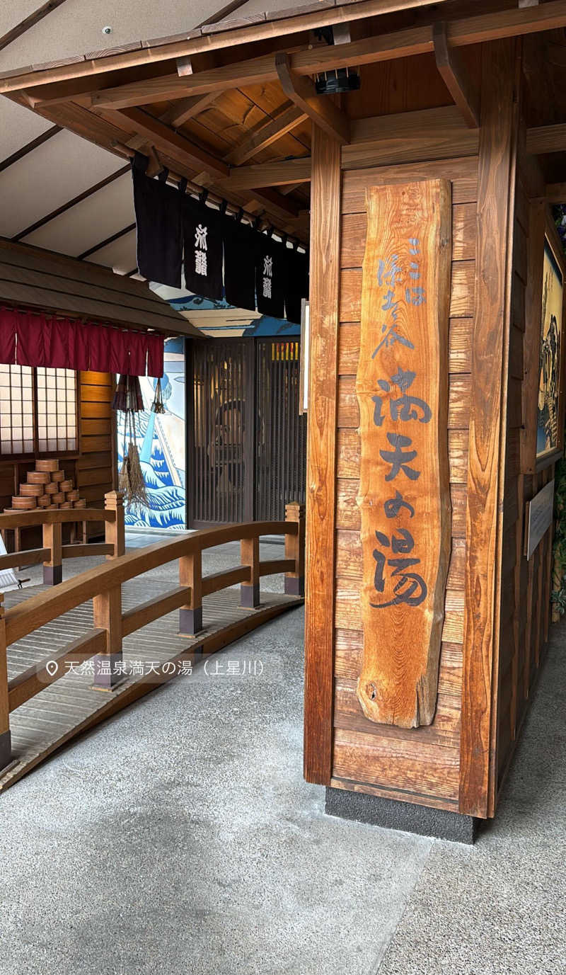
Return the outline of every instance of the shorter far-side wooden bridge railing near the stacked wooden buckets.
{"type": "Polygon", "coordinates": [[[7,528],[43,526],[43,548],[27,549],[0,556],[0,569],[43,563],[43,581],[48,586],[62,579],[62,560],[84,556],[106,555],[113,559],[126,551],[124,499],[120,491],[104,495],[104,508],[58,508],[43,511],[19,511],[0,514],[0,531],[7,528]],[[62,526],[81,522],[104,522],[104,541],[93,545],[63,545],[62,526]]]}

